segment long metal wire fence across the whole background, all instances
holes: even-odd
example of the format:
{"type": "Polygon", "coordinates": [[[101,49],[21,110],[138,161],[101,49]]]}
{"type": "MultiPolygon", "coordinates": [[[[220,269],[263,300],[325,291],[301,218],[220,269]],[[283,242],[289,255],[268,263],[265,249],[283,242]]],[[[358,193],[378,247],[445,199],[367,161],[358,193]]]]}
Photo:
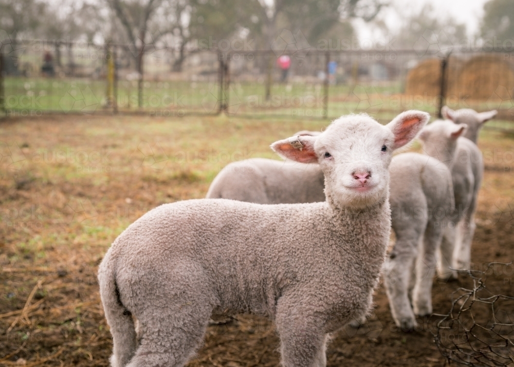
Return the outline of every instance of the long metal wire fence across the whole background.
{"type": "Polygon", "coordinates": [[[0,106],[10,116],[134,112],[329,119],[359,112],[392,116],[408,108],[437,115],[448,104],[495,108],[499,119],[514,119],[511,50],[453,50],[449,56],[338,47],[293,51],[19,41],[0,52],[0,106]]]}

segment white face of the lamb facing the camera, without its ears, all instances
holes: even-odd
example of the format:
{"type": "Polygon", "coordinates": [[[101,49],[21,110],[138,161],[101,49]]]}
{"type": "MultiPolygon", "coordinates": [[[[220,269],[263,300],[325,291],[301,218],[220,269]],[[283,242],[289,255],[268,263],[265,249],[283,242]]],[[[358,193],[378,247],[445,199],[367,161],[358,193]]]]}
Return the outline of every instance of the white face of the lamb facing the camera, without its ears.
{"type": "Polygon", "coordinates": [[[368,116],[334,121],[314,145],[327,195],[344,206],[371,206],[387,194],[394,134],[368,116]]]}

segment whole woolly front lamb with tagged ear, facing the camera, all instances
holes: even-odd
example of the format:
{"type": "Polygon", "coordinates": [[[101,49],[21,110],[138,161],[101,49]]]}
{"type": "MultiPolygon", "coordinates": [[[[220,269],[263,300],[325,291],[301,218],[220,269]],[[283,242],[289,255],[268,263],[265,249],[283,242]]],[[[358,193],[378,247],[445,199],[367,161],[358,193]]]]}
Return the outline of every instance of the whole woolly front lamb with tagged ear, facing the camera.
{"type": "Polygon", "coordinates": [[[371,305],[389,242],[392,152],[428,119],[408,111],[383,126],[350,115],[317,137],[273,143],[285,158],[320,164],[322,203],[187,200],[139,218],[98,272],[113,366],[185,364],[213,311],[268,315],[285,367],[325,366],[327,334],[371,305]]]}

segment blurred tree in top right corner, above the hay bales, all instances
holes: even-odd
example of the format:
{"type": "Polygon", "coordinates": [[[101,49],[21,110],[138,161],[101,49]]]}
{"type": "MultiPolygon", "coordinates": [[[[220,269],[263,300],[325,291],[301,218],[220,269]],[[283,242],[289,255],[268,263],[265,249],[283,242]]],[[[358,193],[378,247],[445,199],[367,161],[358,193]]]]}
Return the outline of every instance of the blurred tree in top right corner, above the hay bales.
{"type": "Polygon", "coordinates": [[[514,40],[514,4],[512,0],[489,0],[484,5],[481,25],[484,38],[514,40]]]}

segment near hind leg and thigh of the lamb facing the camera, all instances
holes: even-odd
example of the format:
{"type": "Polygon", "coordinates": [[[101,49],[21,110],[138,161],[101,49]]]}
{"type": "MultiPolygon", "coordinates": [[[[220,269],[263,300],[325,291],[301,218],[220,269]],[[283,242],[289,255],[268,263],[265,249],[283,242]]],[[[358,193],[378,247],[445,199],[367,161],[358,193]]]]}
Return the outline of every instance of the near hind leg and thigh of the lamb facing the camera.
{"type": "MultiPolygon", "coordinates": [[[[158,286],[139,279],[134,296],[140,345],[127,367],[185,365],[204,340],[213,309],[209,282],[194,264],[158,273],[158,286]]],[[[157,272],[150,273],[154,277],[157,272]]]]}

